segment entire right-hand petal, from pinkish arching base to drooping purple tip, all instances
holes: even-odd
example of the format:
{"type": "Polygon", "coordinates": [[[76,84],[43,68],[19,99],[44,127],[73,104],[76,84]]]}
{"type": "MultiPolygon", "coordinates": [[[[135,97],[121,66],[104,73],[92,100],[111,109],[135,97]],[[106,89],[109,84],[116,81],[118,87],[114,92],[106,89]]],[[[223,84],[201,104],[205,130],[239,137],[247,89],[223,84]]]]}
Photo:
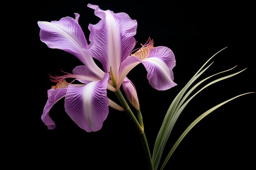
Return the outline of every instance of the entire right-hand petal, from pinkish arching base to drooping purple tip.
{"type": "Polygon", "coordinates": [[[165,46],[157,46],[150,49],[148,56],[140,60],[135,56],[127,57],[122,62],[119,70],[119,82],[117,89],[121,86],[123,79],[139,63],[144,64],[148,71],[147,78],[151,86],[157,90],[167,90],[177,84],[173,82],[173,67],[175,66],[175,57],[171,49],[165,46]]]}

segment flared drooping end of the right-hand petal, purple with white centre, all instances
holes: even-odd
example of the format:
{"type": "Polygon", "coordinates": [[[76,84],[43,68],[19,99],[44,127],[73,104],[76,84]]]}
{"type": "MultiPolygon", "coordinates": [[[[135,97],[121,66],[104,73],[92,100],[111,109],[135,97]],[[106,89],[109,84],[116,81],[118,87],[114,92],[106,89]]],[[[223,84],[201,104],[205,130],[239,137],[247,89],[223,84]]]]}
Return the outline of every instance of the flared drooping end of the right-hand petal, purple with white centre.
{"type": "Polygon", "coordinates": [[[150,50],[148,57],[142,60],[149,84],[157,90],[167,90],[176,86],[173,82],[173,67],[175,66],[173,51],[165,46],[157,46],[150,50]]]}

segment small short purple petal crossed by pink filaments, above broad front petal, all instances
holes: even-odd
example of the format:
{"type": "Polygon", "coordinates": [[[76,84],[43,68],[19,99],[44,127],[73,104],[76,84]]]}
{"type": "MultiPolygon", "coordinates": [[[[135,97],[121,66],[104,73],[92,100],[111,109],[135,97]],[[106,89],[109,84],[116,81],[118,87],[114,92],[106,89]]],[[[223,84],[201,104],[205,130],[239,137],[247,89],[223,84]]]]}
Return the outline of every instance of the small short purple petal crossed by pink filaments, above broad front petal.
{"type": "Polygon", "coordinates": [[[86,76],[85,79],[77,79],[79,82],[84,83],[84,84],[88,84],[88,83],[92,82],[92,80],[94,80],[94,81],[99,80],[97,75],[92,73],[90,68],[88,68],[87,66],[76,66],[73,69],[73,74],[86,76]]]}

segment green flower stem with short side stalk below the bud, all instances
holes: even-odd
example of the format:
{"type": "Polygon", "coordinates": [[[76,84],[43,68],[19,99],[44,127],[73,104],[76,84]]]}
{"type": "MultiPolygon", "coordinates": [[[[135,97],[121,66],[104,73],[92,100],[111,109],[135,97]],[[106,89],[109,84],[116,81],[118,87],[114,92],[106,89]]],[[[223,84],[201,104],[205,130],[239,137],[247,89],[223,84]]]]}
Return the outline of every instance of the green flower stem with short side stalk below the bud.
{"type": "Polygon", "coordinates": [[[127,104],[126,100],[124,99],[124,96],[122,95],[121,91],[118,90],[115,93],[116,93],[119,101],[121,102],[124,110],[126,111],[126,113],[128,113],[130,119],[135,124],[135,127],[137,128],[137,130],[139,132],[139,136],[141,137],[141,141],[142,141],[142,144],[143,144],[143,147],[144,147],[144,151],[146,153],[146,158],[147,158],[147,161],[148,161],[148,168],[149,168],[149,170],[154,170],[153,162],[152,162],[152,158],[151,158],[151,154],[150,154],[150,150],[149,150],[149,147],[148,147],[148,141],[147,141],[146,135],[144,133],[144,127],[143,127],[142,116],[141,116],[140,110],[139,110],[139,112],[137,111],[137,113],[138,113],[138,116],[139,116],[139,121],[140,121],[140,123],[141,123],[143,128],[141,127],[141,125],[137,121],[136,117],[132,113],[132,110],[128,106],[128,104],[127,104]]]}

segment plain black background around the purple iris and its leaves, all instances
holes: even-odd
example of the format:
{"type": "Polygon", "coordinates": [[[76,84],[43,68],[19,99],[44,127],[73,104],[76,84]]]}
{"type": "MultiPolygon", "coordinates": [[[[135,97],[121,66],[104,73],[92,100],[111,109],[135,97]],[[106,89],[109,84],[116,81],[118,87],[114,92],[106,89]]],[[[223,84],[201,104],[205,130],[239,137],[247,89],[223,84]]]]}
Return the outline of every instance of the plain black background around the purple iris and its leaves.
{"type": "MultiPolygon", "coordinates": [[[[138,22],[135,39],[139,43],[144,44],[151,37],[155,46],[167,46],[175,54],[173,72],[178,86],[167,91],[157,91],[148,84],[142,64],[128,74],[137,88],[151,152],[172,100],[204,62],[219,50],[228,46],[213,58],[213,65],[201,79],[236,65],[230,73],[247,69],[213,84],[194,97],[175,124],[164,156],[186,127],[206,110],[236,95],[256,91],[255,12],[253,5],[246,1],[243,4],[162,0],[153,3],[97,0],[13,2],[8,15],[13,21],[13,26],[10,26],[13,37],[9,40],[16,44],[12,49],[15,60],[11,62],[18,65],[15,67],[18,76],[12,79],[15,81],[16,100],[13,100],[11,110],[18,108],[18,111],[9,113],[11,121],[7,123],[12,128],[4,130],[7,132],[4,141],[11,144],[7,145],[5,155],[7,160],[13,160],[9,167],[148,168],[139,135],[126,113],[110,108],[103,128],[91,133],[80,129],[68,117],[64,100],[50,111],[56,123],[54,130],[47,130],[40,119],[47,101],[47,90],[54,85],[49,74],[61,75],[61,70],[71,73],[81,62],[69,53],[49,49],[41,42],[37,22],[59,20],[65,16],[74,18],[74,13],[79,13],[79,23],[88,40],[88,24],[99,22],[94,10],[87,7],[88,3],[97,4],[103,10],[128,13],[138,22]]],[[[116,100],[115,94],[109,92],[108,96],[116,100]]],[[[200,121],[177,147],[166,170],[255,167],[255,96],[249,94],[237,98],[200,121]]]]}

